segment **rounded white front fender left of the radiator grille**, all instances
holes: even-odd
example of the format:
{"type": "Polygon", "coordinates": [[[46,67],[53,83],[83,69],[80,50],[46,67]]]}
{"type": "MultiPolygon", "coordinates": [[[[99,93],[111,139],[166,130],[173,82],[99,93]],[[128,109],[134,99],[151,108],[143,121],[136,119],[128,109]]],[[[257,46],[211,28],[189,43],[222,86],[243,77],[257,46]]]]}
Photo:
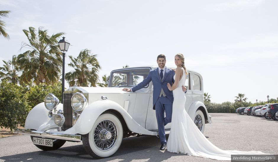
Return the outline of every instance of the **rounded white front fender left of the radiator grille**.
{"type": "MultiPolygon", "coordinates": [[[[58,104],[56,110],[63,110],[63,104],[58,104]]],[[[54,115],[49,118],[48,112],[49,110],[45,108],[44,102],[39,103],[28,113],[24,128],[43,132],[51,128],[58,128],[54,123],[54,115]]]]}

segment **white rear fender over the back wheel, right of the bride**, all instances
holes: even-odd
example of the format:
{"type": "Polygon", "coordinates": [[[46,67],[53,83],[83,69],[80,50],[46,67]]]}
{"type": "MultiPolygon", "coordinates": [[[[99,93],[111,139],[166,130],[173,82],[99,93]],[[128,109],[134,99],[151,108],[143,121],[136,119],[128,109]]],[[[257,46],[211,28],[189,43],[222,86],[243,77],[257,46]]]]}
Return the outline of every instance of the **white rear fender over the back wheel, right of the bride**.
{"type": "Polygon", "coordinates": [[[195,120],[195,113],[196,113],[197,109],[200,108],[200,107],[203,107],[203,108],[201,108],[201,111],[203,112],[205,118],[208,119],[208,123],[211,124],[211,120],[209,120],[208,110],[206,109],[206,106],[201,101],[194,101],[190,105],[190,108],[188,109],[188,115],[194,121],[195,120]]]}

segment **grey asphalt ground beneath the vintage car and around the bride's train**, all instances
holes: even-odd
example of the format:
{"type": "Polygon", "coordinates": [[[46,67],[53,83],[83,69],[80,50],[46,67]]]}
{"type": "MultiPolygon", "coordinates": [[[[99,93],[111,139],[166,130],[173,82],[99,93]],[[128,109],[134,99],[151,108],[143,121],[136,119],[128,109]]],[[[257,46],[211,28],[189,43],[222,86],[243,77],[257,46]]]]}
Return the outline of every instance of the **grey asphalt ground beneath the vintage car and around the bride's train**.
{"type": "MultiPolygon", "coordinates": [[[[204,135],[222,150],[262,151],[278,154],[278,121],[239,114],[211,113],[212,124],[206,124],[204,135]]],[[[167,136],[168,138],[168,136],[167,136]]],[[[91,158],[82,142],[66,142],[55,151],[41,151],[30,136],[0,138],[0,161],[215,161],[159,150],[156,136],[124,138],[119,150],[109,158],[91,158]]]]}

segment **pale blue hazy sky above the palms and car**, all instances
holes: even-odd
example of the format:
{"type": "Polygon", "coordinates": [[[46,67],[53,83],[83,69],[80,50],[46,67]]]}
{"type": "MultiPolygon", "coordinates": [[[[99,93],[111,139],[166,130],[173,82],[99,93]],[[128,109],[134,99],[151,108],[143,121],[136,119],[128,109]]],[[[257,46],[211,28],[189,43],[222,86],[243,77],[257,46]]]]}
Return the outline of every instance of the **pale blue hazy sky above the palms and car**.
{"type": "MultiPolygon", "coordinates": [[[[222,103],[244,93],[247,101],[278,97],[278,1],[32,1],[1,0],[10,40],[0,37],[1,60],[20,54],[22,29],[65,32],[68,55],[90,49],[101,77],[126,64],[156,65],[159,54],[174,67],[174,55],[201,73],[204,91],[222,103]]],[[[23,51],[27,49],[22,49],[23,51]]],[[[22,52],[22,51],[21,51],[22,52]]],[[[72,70],[66,57],[66,72],[72,70]]]]}

